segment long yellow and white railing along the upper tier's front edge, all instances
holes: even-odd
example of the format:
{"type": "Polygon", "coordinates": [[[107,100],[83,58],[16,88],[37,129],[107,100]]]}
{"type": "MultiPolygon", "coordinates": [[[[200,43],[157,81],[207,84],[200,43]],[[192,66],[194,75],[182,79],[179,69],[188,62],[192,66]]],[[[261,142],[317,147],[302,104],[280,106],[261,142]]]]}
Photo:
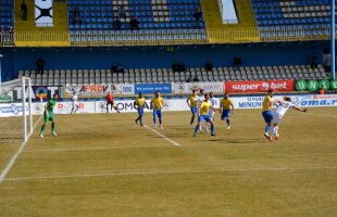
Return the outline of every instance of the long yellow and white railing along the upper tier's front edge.
{"type": "Polygon", "coordinates": [[[66,47],[66,46],[147,46],[191,43],[242,43],[327,40],[329,26],[267,27],[245,29],[170,29],[73,33],[15,33],[1,35],[0,46],[66,47]],[[13,37],[14,36],[14,37],[13,37]]]}

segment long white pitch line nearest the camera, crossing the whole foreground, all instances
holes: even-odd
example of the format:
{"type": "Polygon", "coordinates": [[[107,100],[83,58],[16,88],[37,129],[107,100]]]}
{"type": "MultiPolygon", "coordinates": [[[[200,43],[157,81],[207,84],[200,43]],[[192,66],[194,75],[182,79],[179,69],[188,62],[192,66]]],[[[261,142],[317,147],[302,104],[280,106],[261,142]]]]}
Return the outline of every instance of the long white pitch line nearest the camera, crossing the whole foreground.
{"type": "Polygon", "coordinates": [[[60,176],[37,176],[37,177],[13,177],[5,178],[4,181],[28,181],[40,179],[71,179],[71,178],[95,178],[95,177],[120,177],[120,176],[146,176],[166,174],[207,174],[207,173],[242,173],[242,171],[298,171],[298,170],[328,170],[337,169],[337,166],[317,167],[270,167],[270,168],[228,168],[228,169],[186,169],[186,170],[154,170],[154,171],[129,171],[111,174],[75,174],[60,176]]]}

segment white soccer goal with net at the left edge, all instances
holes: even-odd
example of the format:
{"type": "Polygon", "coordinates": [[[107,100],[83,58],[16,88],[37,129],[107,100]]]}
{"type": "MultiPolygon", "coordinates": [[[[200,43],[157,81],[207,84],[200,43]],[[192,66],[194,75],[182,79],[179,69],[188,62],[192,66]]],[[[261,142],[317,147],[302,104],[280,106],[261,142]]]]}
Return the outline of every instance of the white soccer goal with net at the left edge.
{"type": "Polygon", "coordinates": [[[33,133],[32,86],[30,78],[22,77],[1,86],[0,94],[11,95],[11,102],[0,103],[0,142],[23,140],[33,133]],[[17,95],[13,89],[21,87],[17,95]]]}

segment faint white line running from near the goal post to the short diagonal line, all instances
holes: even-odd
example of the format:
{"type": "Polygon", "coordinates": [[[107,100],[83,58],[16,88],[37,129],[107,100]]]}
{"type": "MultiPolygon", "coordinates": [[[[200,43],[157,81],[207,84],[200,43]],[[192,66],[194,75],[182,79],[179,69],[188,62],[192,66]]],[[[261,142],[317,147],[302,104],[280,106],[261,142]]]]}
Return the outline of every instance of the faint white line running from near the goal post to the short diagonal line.
{"type": "MultiPolygon", "coordinates": [[[[171,146],[171,145],[167,145],[171,146]]],[[[27,150],[25,153],[35,152],[72,152],[72,151],[90,151],[90,150],[110,150],[110,149],[135,149],[135,148],[163,148],[162,145],[127,145],[127,146],[87,146],[73,149],[46,149],[46,150],[27,150]]]]}

